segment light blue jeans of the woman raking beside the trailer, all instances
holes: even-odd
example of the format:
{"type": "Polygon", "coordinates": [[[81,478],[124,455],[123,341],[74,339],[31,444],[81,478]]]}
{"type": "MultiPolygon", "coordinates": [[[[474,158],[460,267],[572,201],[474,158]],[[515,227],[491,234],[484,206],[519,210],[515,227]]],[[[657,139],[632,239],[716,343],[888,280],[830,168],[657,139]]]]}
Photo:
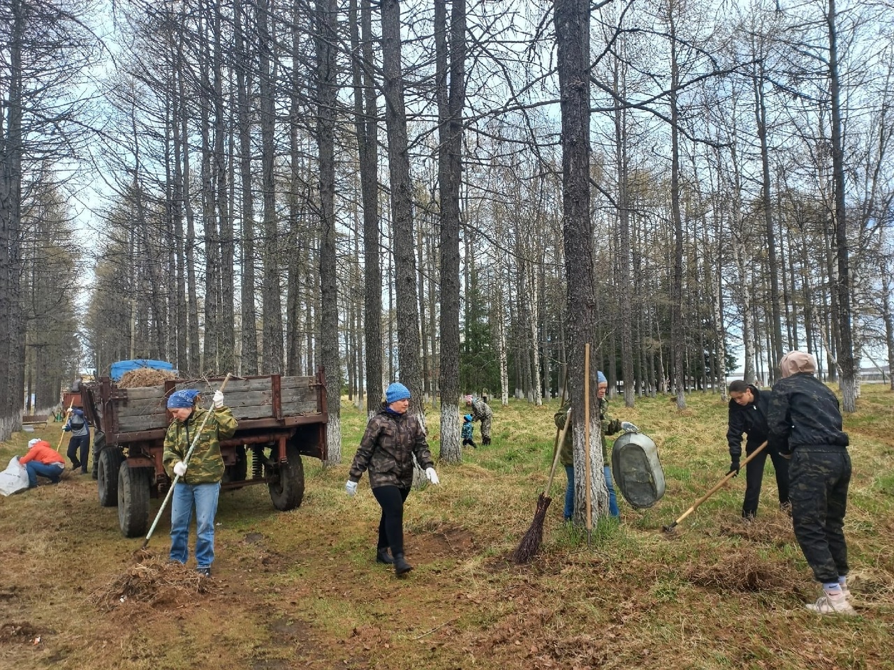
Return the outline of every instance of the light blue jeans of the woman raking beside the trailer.
{"type": "Polygon", "coordinates": [[[190,520],[192,506],[196,506],[196,563],[211,567],[215,560],[215,514],[221,482],[213,484],[185,484],[178,482],[171,500],[172,561],[186,563],[190,557],[190,520]]]}

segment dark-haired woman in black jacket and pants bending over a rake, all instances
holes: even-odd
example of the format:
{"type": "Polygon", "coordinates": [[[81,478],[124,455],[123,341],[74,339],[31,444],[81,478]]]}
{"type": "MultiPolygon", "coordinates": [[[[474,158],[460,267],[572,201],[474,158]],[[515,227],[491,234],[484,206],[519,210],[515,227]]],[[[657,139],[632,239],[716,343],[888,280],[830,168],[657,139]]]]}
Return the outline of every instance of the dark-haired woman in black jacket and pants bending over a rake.
{"type": "MultiPolygon", "coordinates": [[[[727,442],[730,444],[730,471],[738,474],[739,458],[742,456],[742,433],[748,438],[745,453],[750,456],[756,448],[767,440],[770,429],[767,426],[767,410],[770,407],[770,392],[761,393],[757,387],[736,380],[730,384],[730,427],[727,431],[727,442]]],[[[767,454],[776,471],[776,486],[780,493],[780,509],[789,511],[789,461],[780,455],[779,448],[768,444],[760,454],[748,461],[745,468],[745,502],[742,503],[742,516],[753,519],[757,515],[757,502],[761,497],[763,481],[763,464],[767,454]]],[[[728,474],[729,474],[728,473],[728,474]]]]}

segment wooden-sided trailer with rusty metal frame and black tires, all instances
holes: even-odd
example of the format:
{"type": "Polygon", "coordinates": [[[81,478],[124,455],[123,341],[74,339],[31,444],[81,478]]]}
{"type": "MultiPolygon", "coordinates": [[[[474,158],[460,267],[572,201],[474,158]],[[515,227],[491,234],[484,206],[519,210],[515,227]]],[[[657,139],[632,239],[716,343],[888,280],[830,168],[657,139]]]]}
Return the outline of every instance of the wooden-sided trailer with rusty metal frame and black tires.
{"type": "MultiPolygon", "coordinates": [[[[162,465],[164,435],[171,422],[167,397],[174,390],[199,389],[200,402],[210,406],[222,381],[175,379],[120,389],[104,377],[81,390],[84,413],[96,429],[93,476],[99,504],[118,506],[125,537],[148,531],[149,500],[163,497],[171,485],[162,465]]],[[[231,439],[221,441],[226,467],[222,489],[266,484],[276,509],[299,507],[304,498],[301,456],[325,459],[323,370],[312,377],[231,378],[224,397],[239,426],[231,439]]]]}

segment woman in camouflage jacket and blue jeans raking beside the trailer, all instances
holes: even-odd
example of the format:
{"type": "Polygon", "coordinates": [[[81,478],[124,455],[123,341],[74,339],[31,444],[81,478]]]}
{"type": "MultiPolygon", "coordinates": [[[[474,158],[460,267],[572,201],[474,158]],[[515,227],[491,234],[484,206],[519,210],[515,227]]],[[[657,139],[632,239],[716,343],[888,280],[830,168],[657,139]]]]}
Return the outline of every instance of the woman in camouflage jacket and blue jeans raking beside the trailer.
{"type": "Polygon", "coordinates": [[[237,422],[229,407],[223,406],[221,391],[215,391],[214,409],[210,411],[199,407],[197,402],[198,390],[195,389],[174,391],[167,401],[173,421],[164,436],[162,463],[169,477],[179,477],[171,499],[169,557],[183,564],[189,558],[190,519],[195,506],[197,570],[199,574],[211,576],[211,564],[215,560],[217,498],[223,478],[220,440],[233,436],[237,422]],[[187,463],[187,452],[196,440],[199,428],[196,448],[187,463]]]}

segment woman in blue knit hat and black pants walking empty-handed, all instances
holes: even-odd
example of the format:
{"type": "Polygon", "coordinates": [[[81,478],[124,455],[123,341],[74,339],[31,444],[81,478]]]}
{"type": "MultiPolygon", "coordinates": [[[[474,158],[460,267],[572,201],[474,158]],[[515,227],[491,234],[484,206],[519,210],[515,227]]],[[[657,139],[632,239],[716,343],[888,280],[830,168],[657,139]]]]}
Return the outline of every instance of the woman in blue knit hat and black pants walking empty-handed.
{"type": "Polygon", "coordinates": [[[348,495],[353,496],[360,477],[369,471],[369,486],[382,507],[375,562],[394,565],[394,573],[399,577],[413,569],[403,555],[403,505],[413,486],[413,456],[426,471],[428,481],[440,483],[426,432],[417,417],[407,413],[409,397],[409,389],[400,382],[385,390],[384,405],[367,423],[344,485],[348,495]]]}

